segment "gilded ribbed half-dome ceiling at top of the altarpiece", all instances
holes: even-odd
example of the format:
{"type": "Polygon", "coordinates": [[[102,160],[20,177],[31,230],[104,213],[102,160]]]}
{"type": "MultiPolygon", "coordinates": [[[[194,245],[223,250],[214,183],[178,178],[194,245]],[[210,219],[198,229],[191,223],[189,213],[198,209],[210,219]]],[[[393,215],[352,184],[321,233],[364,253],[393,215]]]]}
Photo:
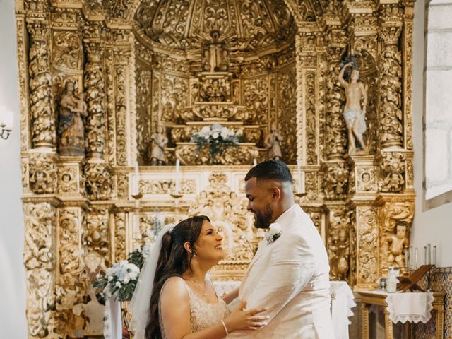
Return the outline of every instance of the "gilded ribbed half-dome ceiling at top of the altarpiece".
{"type": "Polygon", "coordinates": [[[183,50],[218,34],[230,50],[261,52],[291,42],[296,31],[283,0],[143,0],[136,23],[150,40],[183,50]]]}

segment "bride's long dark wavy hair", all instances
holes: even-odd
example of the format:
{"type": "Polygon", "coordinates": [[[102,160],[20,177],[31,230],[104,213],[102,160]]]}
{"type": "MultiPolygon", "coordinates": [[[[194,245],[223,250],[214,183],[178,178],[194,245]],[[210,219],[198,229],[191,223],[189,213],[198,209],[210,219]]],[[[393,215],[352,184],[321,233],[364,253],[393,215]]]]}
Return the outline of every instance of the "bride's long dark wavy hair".
{"type": "MultiPolygon", "coordinates": [[[[165,281],[171,277],[180,277],[188,268],[192,254],[186,251],[184,244],[190,243],[194,250],[196,240],[201,234],[204,220],[210,222],[205,215],[198,215],[182,220],[174,226],[172,232],[167,232],[162,237],[162,249],[155,269],[154,285],[150,296],[149,319],[145,329],[146,339],[160,339],[162,333],[159,321],[159,299],[165,281]]],[[[193,253],[195,254],[195,253],[193,253]]]]}

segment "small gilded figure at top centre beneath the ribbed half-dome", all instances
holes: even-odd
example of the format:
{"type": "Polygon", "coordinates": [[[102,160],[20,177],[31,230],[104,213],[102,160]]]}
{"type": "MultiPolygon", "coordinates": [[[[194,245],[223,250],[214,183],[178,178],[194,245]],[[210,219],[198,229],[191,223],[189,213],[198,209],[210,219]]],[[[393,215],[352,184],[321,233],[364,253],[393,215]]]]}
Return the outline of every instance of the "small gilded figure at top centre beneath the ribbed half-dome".
{"type": "Polygon", "coordinates": [[[220,42],[220,32],[213,30],[210,32],[211,42],[206,43],[206,49],[203,54],[203,71],[206,72],[225,72],[229,69],[227,62],[227,49],[224,42],[220,42]]]}

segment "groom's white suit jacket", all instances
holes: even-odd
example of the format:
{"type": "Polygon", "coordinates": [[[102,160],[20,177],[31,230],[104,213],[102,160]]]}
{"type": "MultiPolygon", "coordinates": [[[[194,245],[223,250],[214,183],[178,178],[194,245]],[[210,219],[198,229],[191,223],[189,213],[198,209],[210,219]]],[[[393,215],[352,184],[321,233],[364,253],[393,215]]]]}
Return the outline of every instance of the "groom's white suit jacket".
{"type": "MultiPolygon", "coordinates": [[[[266,307],[268,325],[230,338],[334,339],[328,256],[309,215],[293,205],[275,220],[281,236],[264,239],[239,287],[246,309],[266,307]]],[[[236,299],[237,300],[237,299],[236,299]]]]}

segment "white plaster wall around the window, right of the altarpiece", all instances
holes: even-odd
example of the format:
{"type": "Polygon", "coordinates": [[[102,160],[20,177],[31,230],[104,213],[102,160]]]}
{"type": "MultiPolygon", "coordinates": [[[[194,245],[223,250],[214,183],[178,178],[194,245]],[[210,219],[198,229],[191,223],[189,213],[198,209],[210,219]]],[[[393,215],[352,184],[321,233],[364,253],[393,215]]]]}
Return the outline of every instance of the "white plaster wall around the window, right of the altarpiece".
{"type": "Polygon", "coordinates": [[[415,4],[413,39],[413,83],[412,114],[413,143],[415,149],[415,219],[413,221],[411,242],[419,248],[419,263],[422,263],[423,247],[427,243],[436,244],[436,264],[439,267],[452,266],[452,203],[422,211],[423,141],[422,117],[424,110],[424,0],[415,4]]]}

